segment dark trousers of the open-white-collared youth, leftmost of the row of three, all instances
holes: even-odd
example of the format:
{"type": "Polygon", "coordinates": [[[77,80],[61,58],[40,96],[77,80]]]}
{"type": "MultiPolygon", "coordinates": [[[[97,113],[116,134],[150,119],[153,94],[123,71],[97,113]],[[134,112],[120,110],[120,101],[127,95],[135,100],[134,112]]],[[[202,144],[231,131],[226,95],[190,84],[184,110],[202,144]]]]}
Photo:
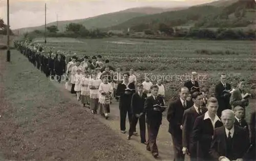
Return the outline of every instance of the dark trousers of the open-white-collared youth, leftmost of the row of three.
{"type": "Polygon", "coordinates": [[[132,111],[131,111],[131,107],[125,107],[125,106],[121,106],[119,107],[120,110],[120,130],[124,131],[126,129],[125,126],[125,122],[126,122],[126,114],[128,113],[128,119],[129,119],[129,123],[131,126],[131,122],[132,122],[132,111]]]}

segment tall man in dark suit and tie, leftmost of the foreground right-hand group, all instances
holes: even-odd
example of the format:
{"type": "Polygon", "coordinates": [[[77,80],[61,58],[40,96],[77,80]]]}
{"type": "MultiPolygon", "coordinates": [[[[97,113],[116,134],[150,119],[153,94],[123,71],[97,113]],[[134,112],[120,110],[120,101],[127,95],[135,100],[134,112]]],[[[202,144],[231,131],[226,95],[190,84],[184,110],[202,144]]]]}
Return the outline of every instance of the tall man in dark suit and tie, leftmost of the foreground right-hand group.
{"type": "Polygon", "coordinates": [[[188,88],[181,87],[180,98],[170,103],[167,111],[168,132],[172,134],[175,161],[184,161],[185,159],[185,154],[182,153],[182,117],[184,110],[193,106],[191,102],[186,100],[187,96],[188,88]]]}

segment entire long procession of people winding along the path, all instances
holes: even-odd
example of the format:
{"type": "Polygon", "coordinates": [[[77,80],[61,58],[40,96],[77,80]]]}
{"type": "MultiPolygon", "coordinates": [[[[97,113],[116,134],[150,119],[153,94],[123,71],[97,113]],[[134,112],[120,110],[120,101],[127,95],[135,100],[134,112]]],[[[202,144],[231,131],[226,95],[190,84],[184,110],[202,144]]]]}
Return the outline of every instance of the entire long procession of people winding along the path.
{"type": "Polygon", "coordinates": [[[255,107],[249,124],[245,121],[250,94],[244,90],[245,80],[231,87],[227,75],[221,74],[215,93],[201,89],[197,73],[179,90],[179,98],[166,104],[163,80],[150,78],[139,82],[131,68],[121,71],[103,61],[101,55],[67,57],[61,51],[28,41],[15,41],[15,48],[24,54],[50,80],[65,81],[65,87],[76,96],[83,107],[106,120],[111,117],[113,101],[119,103],[120,132],[127,132],[127,140],[138,135],[140,143],[154,157],[159,156],[157,136],[167,112],[174,149],[174,160],[256,160],[255,107]],[[126,128],[126,116],[130,127],[126,128]],[[147,129],[147,130],[146,130],[147,129]],[[147,140],[146,140],[147,133],[147,140]]]}

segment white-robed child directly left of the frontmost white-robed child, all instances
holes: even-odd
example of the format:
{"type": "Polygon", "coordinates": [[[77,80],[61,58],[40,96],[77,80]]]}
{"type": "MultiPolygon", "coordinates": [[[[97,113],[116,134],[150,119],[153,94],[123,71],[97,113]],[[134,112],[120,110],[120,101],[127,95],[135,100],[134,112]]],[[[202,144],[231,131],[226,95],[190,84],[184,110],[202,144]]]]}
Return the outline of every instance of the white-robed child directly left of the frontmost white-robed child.
{"type": "Polygon", "coordinates": [[[92,72],[92,79],[89,81],[90,88],[90,108],[93,114],[97,113],[99,103],[99,85],[100,79],[97,79],[97,72],[92,72]]]}

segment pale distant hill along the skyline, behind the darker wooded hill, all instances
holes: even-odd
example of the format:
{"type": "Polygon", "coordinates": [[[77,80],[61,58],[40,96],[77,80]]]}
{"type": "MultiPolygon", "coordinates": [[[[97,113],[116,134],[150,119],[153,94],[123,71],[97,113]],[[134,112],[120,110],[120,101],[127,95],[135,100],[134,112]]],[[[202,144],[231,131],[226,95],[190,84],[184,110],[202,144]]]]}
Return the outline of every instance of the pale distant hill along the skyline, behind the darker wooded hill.
{"type": "MultiPolygon", "coordinates": [[[[75,20],[66,20],[66,21],[58,21],[58,29],[59,31],[65,31],[65,28],[70,23],[78,23],[85,26],[87,29],[96,29],[96,28],[108,28],[111,26],[115,26],[121,24],[131,18],[140,17],[148,14],[156,14],[171,10],[179,10],[182,8],[157,8],[157,7],[141,7],[141,8],[131,8],[126,9],[119,12],[102,14],[95,17],[84,18],[84,19],[75,19],[75,20]]],[[[47,24],[48,26],[56,25],[57,22],[51,22],[47,24]]],[[[15,34],[23,34],[25,32],[31,32],[34,30],[45,30],[45,25],[31,27],[31,28],[21,28],[16,29],[13,32],[15,34]]]]}

